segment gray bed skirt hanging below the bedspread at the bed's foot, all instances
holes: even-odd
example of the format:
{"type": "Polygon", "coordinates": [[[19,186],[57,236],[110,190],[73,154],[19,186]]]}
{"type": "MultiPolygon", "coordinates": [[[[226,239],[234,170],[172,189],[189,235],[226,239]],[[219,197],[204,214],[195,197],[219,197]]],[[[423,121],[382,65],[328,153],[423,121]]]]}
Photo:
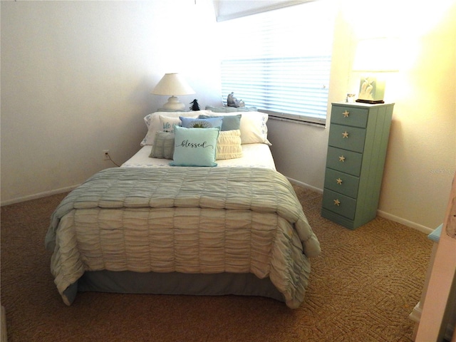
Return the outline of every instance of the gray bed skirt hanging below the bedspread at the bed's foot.
{"type": "Polygon", "coordinates": [[[269,278],[254,274],[138,273],[132,271],[86,271],[64,291],[73,303],[78,292],[96,291],[121,294],[181,294],[197,296],[264,296],[285,301],[269,278]]]}

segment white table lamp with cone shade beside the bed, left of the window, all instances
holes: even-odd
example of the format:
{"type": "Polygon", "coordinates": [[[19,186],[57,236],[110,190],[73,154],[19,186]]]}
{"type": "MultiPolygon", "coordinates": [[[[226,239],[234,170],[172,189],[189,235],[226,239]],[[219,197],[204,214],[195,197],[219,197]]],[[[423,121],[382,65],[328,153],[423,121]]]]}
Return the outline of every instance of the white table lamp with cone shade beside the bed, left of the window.
{"type": "Polygon", "coordinates": [[[165,73],[160,82],[157,83],[152,94],[168,95],[168,102],[162,108],[165,110],[184,110],[185,104],[180,102],[176,95],[194,94],[193,90],[182,76],[178,73],[165,73]]]}

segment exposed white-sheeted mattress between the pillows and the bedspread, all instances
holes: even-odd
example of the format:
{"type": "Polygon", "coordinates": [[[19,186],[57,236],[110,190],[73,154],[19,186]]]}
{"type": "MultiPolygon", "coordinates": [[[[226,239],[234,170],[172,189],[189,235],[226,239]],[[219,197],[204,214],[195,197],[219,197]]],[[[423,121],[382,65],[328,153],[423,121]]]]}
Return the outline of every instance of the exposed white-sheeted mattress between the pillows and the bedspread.
{"type": "MultiPolygon", "coordinates": [[[[143,146],[122,167],[170,167],[170,160],[149,157],[152,146],[143,146]]],[[[217,167],[264,167],[276,170],[269,145],[256,143],[242,145],[243,157],[217,160],[217,167]]]]}

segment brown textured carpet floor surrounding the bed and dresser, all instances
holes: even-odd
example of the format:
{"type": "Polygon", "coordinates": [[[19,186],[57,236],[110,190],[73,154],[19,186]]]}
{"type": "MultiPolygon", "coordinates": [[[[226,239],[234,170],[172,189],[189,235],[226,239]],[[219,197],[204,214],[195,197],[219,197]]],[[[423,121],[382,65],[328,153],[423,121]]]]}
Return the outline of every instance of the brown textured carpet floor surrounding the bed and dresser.
{"type": "Polygon", "coordinates": [[[61,301],[43,245],[64,195],[1,207],[1,305],[8,341],[410,341],[432,242],[377,218],[351,231],[320,216],[321,195],[295,187],[322,254],[306,300],[288,309],[242,296],[78,294],[61,301]]]}

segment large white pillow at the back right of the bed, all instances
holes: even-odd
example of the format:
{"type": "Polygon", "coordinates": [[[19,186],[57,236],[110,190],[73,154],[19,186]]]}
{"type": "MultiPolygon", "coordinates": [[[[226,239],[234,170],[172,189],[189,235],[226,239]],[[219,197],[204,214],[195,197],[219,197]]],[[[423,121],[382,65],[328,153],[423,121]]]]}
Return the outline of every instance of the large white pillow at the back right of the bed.
{"type": "MultiPolygon", "coordinates": [[[[223,115],[239,115],[239,113],[223,113],[223,115]]],[[[210,116],[217,116],[217,113],[211,113],[210,116]]],[[[269,116],[266,113],[242,112],[241,125],[239,127],[242,144],[262,143],[272,145],[268,140],[268,128],[266,126],[268,118],[269,116]]]]}

